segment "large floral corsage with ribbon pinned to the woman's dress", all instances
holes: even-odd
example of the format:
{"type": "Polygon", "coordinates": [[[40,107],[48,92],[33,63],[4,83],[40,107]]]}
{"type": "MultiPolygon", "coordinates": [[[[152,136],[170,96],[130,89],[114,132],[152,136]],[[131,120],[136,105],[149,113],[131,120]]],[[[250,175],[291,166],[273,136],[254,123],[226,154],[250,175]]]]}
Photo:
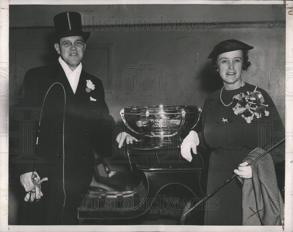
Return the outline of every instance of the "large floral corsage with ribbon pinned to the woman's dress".
{"type": "Polygon", "coordinates": [[[240,93],[233,97],[233,101],[238,101],[236,106],[232,108],[234,114],[241,114],[247,123],[251,123],[253,119],[261,118],[263,115],[269,115],[269,111],[266,110],[268,105],[263,104],[265,99],[261,92],[256,91],[257,87],[253,92],[247,91],[246,94],[240,93]]]}

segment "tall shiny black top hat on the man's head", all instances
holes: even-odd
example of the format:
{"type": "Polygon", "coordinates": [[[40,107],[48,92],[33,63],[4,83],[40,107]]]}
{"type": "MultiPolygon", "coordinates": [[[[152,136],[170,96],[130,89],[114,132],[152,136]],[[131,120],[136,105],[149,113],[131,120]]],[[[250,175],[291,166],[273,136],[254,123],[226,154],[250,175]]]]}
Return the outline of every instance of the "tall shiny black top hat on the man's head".
{"type": "Polygon", "coordinates": [[[82,36],[84,42],[88,40],[91,33],[83,32],[81,25],[81,15],[77,12],[63,12],[53,18],[56,31],[56,39],[69,36],[82,36]]]}

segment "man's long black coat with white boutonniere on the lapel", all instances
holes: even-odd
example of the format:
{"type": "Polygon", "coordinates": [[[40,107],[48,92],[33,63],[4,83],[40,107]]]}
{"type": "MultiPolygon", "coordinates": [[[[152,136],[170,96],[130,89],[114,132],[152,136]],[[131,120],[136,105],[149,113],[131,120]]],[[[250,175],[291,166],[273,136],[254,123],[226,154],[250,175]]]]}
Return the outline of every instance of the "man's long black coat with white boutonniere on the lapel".
{"type": "MultiPolygon", "coordinates": [[[[40,178],[48,177],[48,181],[42,183],[44,196],[38,202],[30,203],[29,224],[76,223],[76,208],[93,176],[93,150],[98,150],[105,157],[111,156],[108,144],[113,144],[114,120],[109,115],[104,97],[100,79],[84,70],[74,94],[59,62],[31,69],[25,74],[24,98],[19,105],[33,110],[41,109],[43,105],[43,112],[40,126],[36,120],[35,136],[30,136],[35,140],[38,137],[36,158],[30,156],[32,162],[18,162],[12,167],[18,181],[21,174],[33,170],[40,178]],[[86,92],[86,80],[95,84],[91,92],[86,92]],[[90,97],[96,101],[91,101],[90,97]],[[66,194],[64,209],[63,187],[66,194]]],[[[20,183],[19,191],[24,198],[25,192],[20,183]]],[[[28,202],[23,201],[22,204],[27,207],[28,202]]],[[[26,215],[27,209],[23,209],[26,215]]]]}

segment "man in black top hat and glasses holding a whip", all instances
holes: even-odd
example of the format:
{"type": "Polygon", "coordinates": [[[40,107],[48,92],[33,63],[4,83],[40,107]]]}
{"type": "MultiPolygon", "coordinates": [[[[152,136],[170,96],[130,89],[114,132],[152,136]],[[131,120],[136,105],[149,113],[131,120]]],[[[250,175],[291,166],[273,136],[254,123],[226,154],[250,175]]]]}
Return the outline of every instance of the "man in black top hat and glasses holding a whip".
{"type": "MultiPolygon", "coordinates": [[[[28,201],[23,201],[21,224],[77,224],[76,209],[93,176],[93,150],[104,157],[113,152],[107,150],[113,141],[114,120],[103,84],[81,64],[90,32],[82,31],[77,12],[57,14],[54,24],[54,47],[60,57],[26,73],[20,100],[24,109],[42,109],[31,162],[14,164],[14,174],[26,191],[21,194],[28,201]]],[[[119,134],[120,147],[125,138],[127,143],[132,141],[128,134],[119,134]]]]}

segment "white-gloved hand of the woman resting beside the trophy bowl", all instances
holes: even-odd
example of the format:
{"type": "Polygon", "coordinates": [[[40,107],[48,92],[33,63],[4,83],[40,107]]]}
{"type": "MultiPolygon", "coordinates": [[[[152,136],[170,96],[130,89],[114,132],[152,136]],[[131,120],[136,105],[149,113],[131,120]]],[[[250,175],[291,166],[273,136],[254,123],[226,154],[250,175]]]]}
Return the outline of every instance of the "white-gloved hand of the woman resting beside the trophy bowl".
{"type": "Polygon", "coordinates": [[[197,154],[196,152],[196,146],[200,144],[200,140],[198,138],[198,135],[195,131],[190,131],[188,136],[183,139],[183,142],[180,146],[181,148],[181,155],[184,159],[191,162],[192,156],[190,153],[190,149],[192,148],[192,152],[194,154],[197,154]]]}

